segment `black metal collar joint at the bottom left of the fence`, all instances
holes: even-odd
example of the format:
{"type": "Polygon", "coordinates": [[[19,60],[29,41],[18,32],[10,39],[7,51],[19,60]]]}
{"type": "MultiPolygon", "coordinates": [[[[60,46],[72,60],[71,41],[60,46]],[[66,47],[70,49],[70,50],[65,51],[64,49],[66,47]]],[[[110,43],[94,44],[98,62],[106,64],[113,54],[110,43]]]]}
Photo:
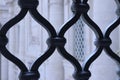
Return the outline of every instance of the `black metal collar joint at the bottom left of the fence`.
{"type": "Polygon", "coordinates": [[[21,72],[19,78],[20,80],[38,80],[40,78],[40,74],[38,71],[21,72]]]}

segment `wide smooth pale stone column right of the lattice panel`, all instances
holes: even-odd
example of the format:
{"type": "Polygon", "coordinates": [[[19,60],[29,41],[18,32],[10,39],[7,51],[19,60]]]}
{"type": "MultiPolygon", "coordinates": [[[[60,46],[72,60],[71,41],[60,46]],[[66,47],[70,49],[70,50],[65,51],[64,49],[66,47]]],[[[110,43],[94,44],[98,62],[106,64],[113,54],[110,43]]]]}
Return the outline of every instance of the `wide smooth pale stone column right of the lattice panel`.
{"type": "MultiPolygon", "coordinates": [[[[93,5],[93,19],[104,32],[116,19],[116,4],[110,0],[94,0],[93,5]],[[102,5],[101,5],[102,4],[102,5]]],[[[112,33],[111,38],[113,43],[111,48],[113,51],[118,49],[118,30],[112,33]]],[[[91,66],[92,77],[91,80],[116,80],[117,79],[117,65],[115,61],[110,58],[104,51],[91,66]]]]}

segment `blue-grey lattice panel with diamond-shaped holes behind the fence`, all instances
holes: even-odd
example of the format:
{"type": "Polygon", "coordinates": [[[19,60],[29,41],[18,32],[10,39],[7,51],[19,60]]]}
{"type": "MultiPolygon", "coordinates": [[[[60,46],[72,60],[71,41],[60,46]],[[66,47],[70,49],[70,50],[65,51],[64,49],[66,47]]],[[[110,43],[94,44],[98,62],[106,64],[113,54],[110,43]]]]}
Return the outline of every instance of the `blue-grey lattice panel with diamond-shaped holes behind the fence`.
{"type": "Polygon", "coordinates": [[[85,59],[85,50],[84,50],[84,24],[81,19],[79,19],[74,24],[74,56],[75,58],[83,62],[85,59]]]}

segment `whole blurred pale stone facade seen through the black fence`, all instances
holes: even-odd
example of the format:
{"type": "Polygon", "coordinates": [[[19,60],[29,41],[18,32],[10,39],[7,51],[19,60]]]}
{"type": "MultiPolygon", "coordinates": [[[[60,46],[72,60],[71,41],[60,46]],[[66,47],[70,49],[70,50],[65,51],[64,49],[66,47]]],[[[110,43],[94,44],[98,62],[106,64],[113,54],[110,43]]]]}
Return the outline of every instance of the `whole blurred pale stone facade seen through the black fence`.
{"type": "MultiPolygon", "coordinates": [[[[15,17],[20,7],[18,0],[0,0],[0,27],[15,17]]],[[[71,12],[72,0],[39,0],[38,11],[59,31],[61,26],[73,17],[71,12]]],[[[117,4],[114,0],[89,0],[88,15],[104,32],[106,28],[118,18],[117,4]]],[[[120,28],[111,33],[112,50],[119,54],[120,28]]],[[[47,50],[47,31],[29,14],[14,25],[8,33],[8,50],[21,59],[28,68],[47,50]]],[[[73,55],[81,64],[95,51],[95,34],[80,18],[65,34],[65,45],[69,54],[73,55]]],[[[91,64],[90,80],[117,80],[119,67],[104,51],[91,64]]],[[[40,80],[74,80],[73,66],[56,50],[39,68],[40,80]]],[[[18,80],[19,69],[0,55],[0,80],[18,80]]]]}

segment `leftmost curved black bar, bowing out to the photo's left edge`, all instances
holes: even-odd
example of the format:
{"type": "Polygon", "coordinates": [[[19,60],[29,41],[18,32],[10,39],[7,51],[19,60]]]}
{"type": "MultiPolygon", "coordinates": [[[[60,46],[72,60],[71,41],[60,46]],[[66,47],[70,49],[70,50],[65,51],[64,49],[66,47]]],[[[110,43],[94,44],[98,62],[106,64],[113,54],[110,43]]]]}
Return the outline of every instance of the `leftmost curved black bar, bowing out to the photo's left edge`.
{"type": "Polygon", "coordinates": [[[13,56],[7,49],[6,49],[6,44],[8,42],[8,39],[6,37],[7,31],[16,23],[18,23],[21,19],[24,18],[24,16],[27,13],[27,9],[22,9],[20,11],[20,13],[13,18],[12,20],[10,20],[9,22],[7,22],[0,30],[0,51],[1,54],[6,57],[8,60],[12,61],[14,64],[16,64],[21,70],[23,71],[27,71],[26,66],[24,65],[24,63],[22,63],[18,58],[16,58],[15,56],[13,56]]]}

